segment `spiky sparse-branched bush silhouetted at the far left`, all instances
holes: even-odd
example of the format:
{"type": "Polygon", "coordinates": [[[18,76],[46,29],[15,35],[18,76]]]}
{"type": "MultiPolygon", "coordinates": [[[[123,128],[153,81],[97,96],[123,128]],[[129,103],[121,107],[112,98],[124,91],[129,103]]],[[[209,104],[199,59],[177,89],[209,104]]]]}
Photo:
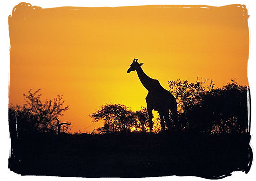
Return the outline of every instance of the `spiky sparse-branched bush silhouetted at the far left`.
{"type": "Polygon", "coordinates": [[[70,123],[61,123],[58,120],[69,107],[64,106],[62,95],[57,95],[54,100],[41,100],[40,89],[34,93],[30,89],[23,96],[26,104],[9,107],[9,112],[16,113],[19,119],[22,120],[23,129],[54,133],[60,130],[60,125],[64,125],[62,131],[70,129],[70,123]],[[29,129],[26,125],[29,126],[29,129]]]}

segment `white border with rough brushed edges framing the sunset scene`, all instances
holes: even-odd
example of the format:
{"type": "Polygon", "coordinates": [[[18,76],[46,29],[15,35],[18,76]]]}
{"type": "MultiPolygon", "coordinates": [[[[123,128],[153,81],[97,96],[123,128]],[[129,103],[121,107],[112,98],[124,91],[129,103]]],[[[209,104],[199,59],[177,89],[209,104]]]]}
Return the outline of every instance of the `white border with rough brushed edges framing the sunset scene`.
{"type": "MultiPolygon", "coordinates": [[[[8,15],[12,13],[14,6],[19,4],[21,1],[18,0],[6,0],[6,2],[1,2],[1,23],[0,23],[0,177],[3,179],[19,179],[21,181],[32,181],[34,179],[39,181],[49,180],[49,181],[65,181],[74,180],[74,178],[65,177],[46,177],[46,176],[20,176],[14,174],[9,169],[8,156],[9,156],[9,131],[8,131],[8,81],[9,81],[9,32],[8,32],[8,15]]],[[[32,4],[32,6],[40,6],[42,8],[59,7],[59,6],[138,6],[138,5],[209,5],[209,6],[224,6],[229,4],[244,4],[248,8],[249,17],[249,31],[250,31],[250,48],[249,48],[249,62],[248,62],[248,78],[249,86],[251,90],[251,106],[252,106],[252,117],[251,117],[251,145],[256,148],[256,4],[253,0],[24,0],[27,3],[32,4]]],[[[255,151],[254,151],[254,154],[255,151]]],[[[255,156],[254,156],[255,157],[255,156]]],[[[233,172],[231,177],[222,179],[222,181],[234,181],[234,180],[247,180],[251,181],[256,178],[256,162],[253,161],[251,170],[248,174],[242,172],[233,172]]],[[[76,178],[75,180],[84,180],[85,178],[76,178]]],[[[183,181],[205,181],[205,179],[199,177],[155,177],[155,178],[141,178],[142,181],[155,181],[159,179],[164,180],[177,180],[183,181]]],[[[86,179],[92,180],[92,179],[86,179]]],[[[94,180],[121,180],[120,178],[108,178],[108,179],[94,179],[94,180]]],[[[134,179],[122,179],[122,180],[134,180],[134,179]]],[[[138,180],[138,179],[135,179],[138,180]]]]}

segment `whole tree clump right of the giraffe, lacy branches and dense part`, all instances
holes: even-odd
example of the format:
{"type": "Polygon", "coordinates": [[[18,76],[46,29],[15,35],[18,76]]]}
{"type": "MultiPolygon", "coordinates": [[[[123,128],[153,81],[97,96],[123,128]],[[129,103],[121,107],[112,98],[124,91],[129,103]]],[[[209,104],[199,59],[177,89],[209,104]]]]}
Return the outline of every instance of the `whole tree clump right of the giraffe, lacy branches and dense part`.
{"type": "Polygon", "coordinates": [[[222,88],[212,81],[169,81],[179,105],[183,130],[244,133],[248,130],[247,87],[234,80],[222,88]]]}

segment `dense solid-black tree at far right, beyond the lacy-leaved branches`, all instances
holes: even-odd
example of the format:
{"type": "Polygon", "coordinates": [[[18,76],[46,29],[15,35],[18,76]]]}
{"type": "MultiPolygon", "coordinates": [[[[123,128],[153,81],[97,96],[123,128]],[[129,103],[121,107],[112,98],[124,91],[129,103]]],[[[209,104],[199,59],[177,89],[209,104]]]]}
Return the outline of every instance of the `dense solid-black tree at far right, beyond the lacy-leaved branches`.
{"type": "MultiPolygon", "coordinates": [[[[222,88],[207,92],[203,96],[202,104],[195,106],[205,122],[204,130],[212,133],[248,132],[247,88],[249,87],[231,80],[231,83],[222,88]]],[[[193,115],[192,112],[191,114],[193,115]]]]}

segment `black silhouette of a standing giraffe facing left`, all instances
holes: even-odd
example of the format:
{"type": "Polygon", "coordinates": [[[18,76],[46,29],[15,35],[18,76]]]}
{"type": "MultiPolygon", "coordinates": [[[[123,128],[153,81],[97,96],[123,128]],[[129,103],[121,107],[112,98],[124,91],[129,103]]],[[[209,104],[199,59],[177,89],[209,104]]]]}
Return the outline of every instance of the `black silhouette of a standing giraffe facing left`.
{"type": "Polygon", "coordinates": [[[169,111],[171,111],[171,119],[174,122],[175,129],[178,129],[177,119],[177,102],[173,94],[163,88],[158,80],[150,78],[141,69],[143,63],[137,62],[138,59],[134,59],[127,73],[136,71],[142,85],[148,90],[146,97],[147,110],[149,115],[149,131],[152,131],[153,127],[153,109],[159,113],[161,119],[162,131],[165,130],[165,124],[168,130],[171,129],[171,121],[169,119],[169,111]]]}

